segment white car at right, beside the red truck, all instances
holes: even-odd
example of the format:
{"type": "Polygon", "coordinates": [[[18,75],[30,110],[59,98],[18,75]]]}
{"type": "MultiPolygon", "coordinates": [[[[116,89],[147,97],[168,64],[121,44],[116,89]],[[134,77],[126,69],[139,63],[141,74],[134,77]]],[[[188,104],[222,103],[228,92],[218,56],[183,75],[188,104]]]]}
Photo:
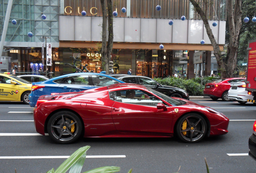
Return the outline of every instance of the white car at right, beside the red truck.
{"type": "MultiPolygon", "coordinates": [[[[239,82],[230,82],[230,89],[228,93],[229,100],[235,100],[238,103],[246,104],[247,99],[253,100],[252,95],[248,95],[248,91],[246,91],[246,80],[241,80],[239,82]]],[[[254,103],[256,105],[256,103],[254,103]]]]}

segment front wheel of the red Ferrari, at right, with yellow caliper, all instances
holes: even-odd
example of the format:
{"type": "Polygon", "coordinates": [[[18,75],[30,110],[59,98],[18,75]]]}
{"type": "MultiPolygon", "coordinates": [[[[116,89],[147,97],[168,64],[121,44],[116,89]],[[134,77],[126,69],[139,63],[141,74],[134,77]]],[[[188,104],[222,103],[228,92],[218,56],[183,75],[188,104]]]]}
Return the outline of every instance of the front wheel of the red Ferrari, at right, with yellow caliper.
{"type": "Polygon", "coordinates": [[[205,119],[196,113],[184,115],[176,126],[177,136],[186,143],[201,141],[207,133],[205,119]],[[184,127],[183,127],[184,126],[184,127]]]}

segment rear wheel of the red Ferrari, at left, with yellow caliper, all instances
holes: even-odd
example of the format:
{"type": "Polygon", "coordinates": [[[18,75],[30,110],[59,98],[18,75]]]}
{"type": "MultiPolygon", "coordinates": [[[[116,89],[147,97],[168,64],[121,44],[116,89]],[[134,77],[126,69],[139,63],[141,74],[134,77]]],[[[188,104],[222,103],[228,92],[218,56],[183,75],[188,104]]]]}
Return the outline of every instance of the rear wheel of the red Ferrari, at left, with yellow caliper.
{"type": "Polygon", "coordinates": [[[49,136],[56,143],[60,144],[68,144],[76,141],[81,136],[82,128],[81,119],[79,119],[76,114],[69,111],[55,113],[47,123],[49,136]]]}

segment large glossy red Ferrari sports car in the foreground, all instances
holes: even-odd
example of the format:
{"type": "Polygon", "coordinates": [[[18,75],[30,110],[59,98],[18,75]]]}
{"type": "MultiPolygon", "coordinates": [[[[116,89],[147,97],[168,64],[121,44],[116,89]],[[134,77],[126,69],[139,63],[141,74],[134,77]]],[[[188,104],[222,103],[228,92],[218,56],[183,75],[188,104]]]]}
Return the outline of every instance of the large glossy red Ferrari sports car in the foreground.
{"type": "Polygon", "coordinates": [[[228,133],[229,119],[209,107],[138,84],[114,84],[39,97],[35,129],[57,143],[84,137],[173,137],[195,143],[228,133]]]}

